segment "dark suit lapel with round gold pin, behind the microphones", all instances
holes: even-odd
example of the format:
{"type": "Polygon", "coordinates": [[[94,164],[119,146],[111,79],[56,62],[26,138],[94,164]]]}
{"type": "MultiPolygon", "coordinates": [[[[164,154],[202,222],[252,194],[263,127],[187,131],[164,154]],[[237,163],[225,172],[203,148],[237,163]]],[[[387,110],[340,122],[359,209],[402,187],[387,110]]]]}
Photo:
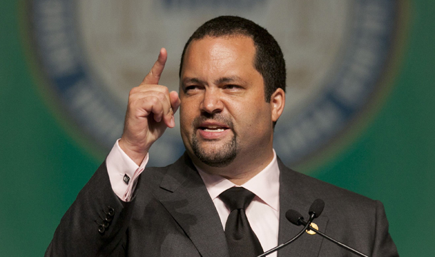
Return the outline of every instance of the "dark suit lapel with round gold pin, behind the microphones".
{"type": "MultiPolygon", "coordinates": [[[[280,158],[278,158],[278,165],[280,166],[280,230],[278,243],[281,244],[289,241],[302,229],[302,226],[295,226],[287,221],[285,213],[290,209],[294,209],[299,211],[307,220],[309,206],[316,198],[313,196],[315,188],[309,188],[309,185],[303,179],[304,176],[300,176],[299,173],[287,168],[280,158]]],[[[319,231],[325,231],[327,222],[328,218],[324,215],[314,220],[314,223],[319,226],[319,231]]],[[[289,246],[278,251],[278,256],[318,256],[322,239],[319,235],[304,233],[289,246]]]]}

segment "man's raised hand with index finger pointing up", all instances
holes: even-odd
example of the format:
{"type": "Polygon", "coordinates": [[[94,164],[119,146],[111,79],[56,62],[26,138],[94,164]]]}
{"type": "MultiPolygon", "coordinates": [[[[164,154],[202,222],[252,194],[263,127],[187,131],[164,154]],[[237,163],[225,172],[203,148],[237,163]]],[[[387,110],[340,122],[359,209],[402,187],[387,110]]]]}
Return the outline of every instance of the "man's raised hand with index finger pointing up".
{"type": "Polygon", "coordinates": [[[174,114],[180,106],[178,93],[158,85],[168,53],[160,49],[157,61],[142,83],[131,89],[124,131],[119,146],[138,165],[165,129],[175,126],[174,114]]]}

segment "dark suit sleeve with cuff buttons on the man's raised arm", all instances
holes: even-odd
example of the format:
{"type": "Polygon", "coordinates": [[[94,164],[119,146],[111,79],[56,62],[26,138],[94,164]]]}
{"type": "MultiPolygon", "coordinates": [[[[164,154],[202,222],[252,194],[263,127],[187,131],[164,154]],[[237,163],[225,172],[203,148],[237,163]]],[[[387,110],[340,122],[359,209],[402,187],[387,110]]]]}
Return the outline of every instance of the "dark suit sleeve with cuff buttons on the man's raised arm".
{"type": "Polygon", "coordinates": [[[106,161],[78,193],[56,228],[45,256],[124,256],[134,199],[111,188],[106,161]]]}

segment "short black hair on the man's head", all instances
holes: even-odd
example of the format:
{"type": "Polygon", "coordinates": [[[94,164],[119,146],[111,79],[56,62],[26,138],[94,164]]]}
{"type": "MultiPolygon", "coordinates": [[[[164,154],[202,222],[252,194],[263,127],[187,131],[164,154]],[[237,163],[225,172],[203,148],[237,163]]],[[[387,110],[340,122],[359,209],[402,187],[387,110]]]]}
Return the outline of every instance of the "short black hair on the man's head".
{"type": "Polygon", "coordinates": [[[239,16],[219,16],[201,25],[184,46],[181,54],[180,71],[183,69],[185,51],[190,42],[204,39],[206,36],[247,36],[254,41],[255,59],[254,67],[262,75],[265,83],[265,100],[269,103],[270,97],[277,89],[285,91],[286,71],[284,56],[274,37],[262,26],[239,16]]]}

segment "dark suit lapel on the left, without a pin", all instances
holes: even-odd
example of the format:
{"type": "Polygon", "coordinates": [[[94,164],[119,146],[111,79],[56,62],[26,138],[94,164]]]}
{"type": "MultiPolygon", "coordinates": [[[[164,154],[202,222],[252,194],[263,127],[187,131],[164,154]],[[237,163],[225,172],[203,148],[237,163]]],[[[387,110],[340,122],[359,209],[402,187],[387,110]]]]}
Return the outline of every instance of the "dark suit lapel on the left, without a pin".
{"type": "Polygon", "coordinates": [[[187,154],[165,174],[156,197],[183,228],[201,256],[228,256],[218,211],[187,154]]]}

